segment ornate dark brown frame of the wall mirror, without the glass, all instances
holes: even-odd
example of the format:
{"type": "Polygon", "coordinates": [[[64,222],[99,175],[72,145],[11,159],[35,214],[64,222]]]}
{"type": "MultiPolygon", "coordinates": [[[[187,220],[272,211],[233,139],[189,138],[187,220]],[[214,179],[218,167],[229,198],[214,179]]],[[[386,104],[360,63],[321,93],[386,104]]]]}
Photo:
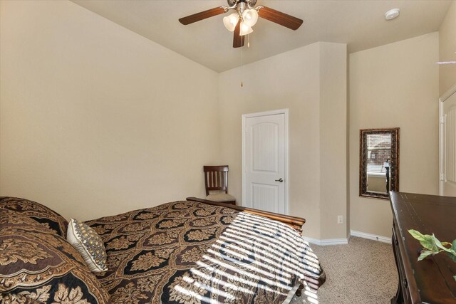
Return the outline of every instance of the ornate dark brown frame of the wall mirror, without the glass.
{"type": "Polygon", "coordinates": [[[359,131],[359,196],[389,199],[389,193],[368,192],[368,148],[367,137],[373,134],[391,135],[390,191],[399,191],[399,128],[362,129],[359,131]]]}

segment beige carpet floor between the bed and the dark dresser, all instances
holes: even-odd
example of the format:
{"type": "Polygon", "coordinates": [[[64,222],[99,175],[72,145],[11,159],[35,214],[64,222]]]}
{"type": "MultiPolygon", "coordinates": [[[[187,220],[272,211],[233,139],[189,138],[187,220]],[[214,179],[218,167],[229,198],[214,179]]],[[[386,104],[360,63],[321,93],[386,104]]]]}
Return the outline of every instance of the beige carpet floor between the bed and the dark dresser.
{"type": "Polygon", "coordinates": [[[352,236],[348,245],[311,248],[326,272],[326,283],[316,297],[303,293],[294,296],[292,304],[387,304],[398,287],[398,272],[393,248],[352,236]]]}

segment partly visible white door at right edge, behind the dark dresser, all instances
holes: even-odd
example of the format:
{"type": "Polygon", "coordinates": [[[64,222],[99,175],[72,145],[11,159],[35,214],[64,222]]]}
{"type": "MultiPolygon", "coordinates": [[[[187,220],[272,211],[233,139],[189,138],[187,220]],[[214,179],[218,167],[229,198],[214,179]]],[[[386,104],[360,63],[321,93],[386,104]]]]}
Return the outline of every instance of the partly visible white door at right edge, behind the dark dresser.
{"type": "Polygon", "coordinates": [[[456,196],[456,92],[442,104],[442,195],[456,196]]]}

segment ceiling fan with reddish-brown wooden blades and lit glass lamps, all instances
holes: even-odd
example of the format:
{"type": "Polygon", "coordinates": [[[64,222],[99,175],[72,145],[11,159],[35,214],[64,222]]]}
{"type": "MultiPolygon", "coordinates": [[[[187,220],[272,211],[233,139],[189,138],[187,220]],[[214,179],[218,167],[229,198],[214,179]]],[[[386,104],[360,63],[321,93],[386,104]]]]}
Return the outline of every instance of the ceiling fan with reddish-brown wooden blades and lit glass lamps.
{"type": "Polygon", "coordinates": [[[269,7],[257,4],[257,0],[227,0],[228,6],[219,6],[207,11],[201,11],[197,14],[183,17],[179,19],[180,23],[187,25],[197,21],[207,19],[209,17],[217,16],[219,14],[227,13],[229,10],[234,10],[234,14],[225,16],[223,19],[224,26],[228,31],[234,31],[233,48],[244,46],[244,35],[252,33],[252,26],[257,23],[258,17],[278,23],[286,28],[291,28],[296,31],[303,21],[294,16],[290,16],[269,9],[269,7]]]}

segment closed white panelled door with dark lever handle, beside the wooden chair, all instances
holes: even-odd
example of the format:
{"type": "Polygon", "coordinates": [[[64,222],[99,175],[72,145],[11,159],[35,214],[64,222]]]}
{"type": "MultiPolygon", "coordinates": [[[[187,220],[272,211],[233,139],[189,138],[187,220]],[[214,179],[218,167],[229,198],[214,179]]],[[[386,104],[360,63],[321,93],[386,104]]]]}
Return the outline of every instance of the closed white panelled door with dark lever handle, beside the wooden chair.
{"type": "Polygon", "coordinates": [[[287,116],[287,110],[243,115],[243,206],[288,212],[287,116]]]}

